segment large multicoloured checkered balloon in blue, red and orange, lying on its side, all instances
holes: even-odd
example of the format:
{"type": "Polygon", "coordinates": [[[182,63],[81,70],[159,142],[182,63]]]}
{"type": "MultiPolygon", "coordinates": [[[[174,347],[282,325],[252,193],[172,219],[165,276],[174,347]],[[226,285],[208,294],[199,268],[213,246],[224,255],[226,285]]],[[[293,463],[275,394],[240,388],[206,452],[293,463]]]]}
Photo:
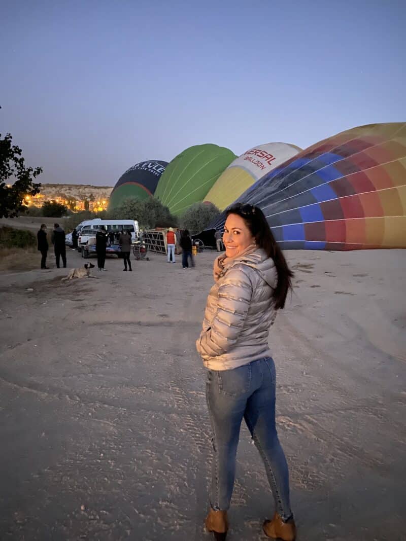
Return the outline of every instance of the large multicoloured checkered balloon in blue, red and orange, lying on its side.
{"type": "MultiPolygon", "coordinates": [[[[236,202],[260,207],[282,248],[406,248],[406,123],[369,124],[316,143],[236,202]]],[[[209,227],[224,221],[222,214],[209,227]]]]}

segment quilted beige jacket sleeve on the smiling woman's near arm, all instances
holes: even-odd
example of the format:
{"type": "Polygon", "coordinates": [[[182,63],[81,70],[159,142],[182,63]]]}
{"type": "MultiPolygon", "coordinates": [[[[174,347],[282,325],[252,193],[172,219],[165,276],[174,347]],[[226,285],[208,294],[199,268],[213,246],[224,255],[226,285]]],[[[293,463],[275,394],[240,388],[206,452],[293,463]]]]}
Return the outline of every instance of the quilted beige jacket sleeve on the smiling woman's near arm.
{"type": "Polygon", "coordinates": [[[196,342],[202,358],[218,357],[237,342],[244,327],[252,296],[252,283],[241,267],[231,268],[218,291],[217,310],[210,327],[200,333],[196,342]]]}

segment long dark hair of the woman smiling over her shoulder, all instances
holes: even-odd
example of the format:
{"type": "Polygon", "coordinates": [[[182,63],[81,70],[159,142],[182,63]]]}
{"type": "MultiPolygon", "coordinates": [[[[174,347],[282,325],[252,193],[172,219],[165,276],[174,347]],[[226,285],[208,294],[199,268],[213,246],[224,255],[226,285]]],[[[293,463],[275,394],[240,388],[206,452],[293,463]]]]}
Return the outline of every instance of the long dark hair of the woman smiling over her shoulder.
{"type": "Polygon", "coordinates": [[[267,255],[273,259],[278,273],[278,283],[273,292],[274,307],[278,310],[285,306],[286,295],[292,289],[293,272],[286,263],[285,256],[274,239],[265,215],[258,207],[250,204],[236,204],[227,209],[226,215],[237,214],[250,229],[255,237],[257,246],[263,248],[267,255]]]}

